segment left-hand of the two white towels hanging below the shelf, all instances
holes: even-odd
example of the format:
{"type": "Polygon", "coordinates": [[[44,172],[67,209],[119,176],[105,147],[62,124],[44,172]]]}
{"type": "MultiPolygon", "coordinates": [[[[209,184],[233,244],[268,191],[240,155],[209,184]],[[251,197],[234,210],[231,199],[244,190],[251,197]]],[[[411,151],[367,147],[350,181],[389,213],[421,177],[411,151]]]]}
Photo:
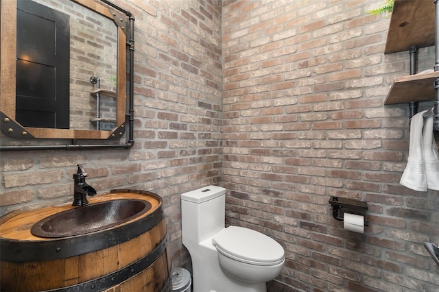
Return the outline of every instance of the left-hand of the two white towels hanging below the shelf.
{"type": "Polygon", "coordinates": [[[427,176],[425,175],[425,158],[423,147],[423,113],[418,112],[410,123],[409,157],[400,184],[415,191],[427,191],[427,176]]]}

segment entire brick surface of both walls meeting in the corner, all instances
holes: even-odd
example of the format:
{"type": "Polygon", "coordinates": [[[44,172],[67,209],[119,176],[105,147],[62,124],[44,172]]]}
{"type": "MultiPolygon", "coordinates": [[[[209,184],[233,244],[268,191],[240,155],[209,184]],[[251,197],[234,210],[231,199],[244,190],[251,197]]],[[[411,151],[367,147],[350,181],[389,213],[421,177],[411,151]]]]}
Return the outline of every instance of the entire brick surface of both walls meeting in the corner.
{"type": "MultiPolygon", "coordinates": [[[[2,152],[1,214],[71,202],[83,163],[98,193],[161,195],[190,268],[180,193],[223,179],[228,223],[285,247],[272,291],[437,290],[423,242],[439,239],[438,192],[398,184],[407,106],[383,99],[409,58],[383,54],[390,19],[365,13],[382,2],[118,0],[136,17],[134,148],[2,152]],[[368,202],[365,234],[331,217],[331,195],[368,202]]],[[[433,63],[420,49],[419,71],[433,63]]]]}

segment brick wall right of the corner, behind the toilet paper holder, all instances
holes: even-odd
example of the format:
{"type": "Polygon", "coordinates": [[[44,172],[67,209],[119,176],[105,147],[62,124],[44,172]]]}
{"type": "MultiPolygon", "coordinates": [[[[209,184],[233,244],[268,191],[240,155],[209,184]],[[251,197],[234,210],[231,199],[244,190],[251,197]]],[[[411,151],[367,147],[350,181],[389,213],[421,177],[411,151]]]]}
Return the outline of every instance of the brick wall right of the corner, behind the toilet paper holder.
{"type": "MultiPolygon", "coordinates": [[[[384,55],[384,1],[223,1],[223,186],[228,223],[278,240],[272,291],[437,291],[437,191],[399,185],[407,105],[383,106],[408,52],[384,55]],[[364,234],[329,197],[368,202],[364,234]],[[278,284],[279,282],[284,285],[278,284]]],[[[421,49],[419,71],[432,69],[421,49]]],[[[429,108],[431,104],[421,104],[429,108]]]]}

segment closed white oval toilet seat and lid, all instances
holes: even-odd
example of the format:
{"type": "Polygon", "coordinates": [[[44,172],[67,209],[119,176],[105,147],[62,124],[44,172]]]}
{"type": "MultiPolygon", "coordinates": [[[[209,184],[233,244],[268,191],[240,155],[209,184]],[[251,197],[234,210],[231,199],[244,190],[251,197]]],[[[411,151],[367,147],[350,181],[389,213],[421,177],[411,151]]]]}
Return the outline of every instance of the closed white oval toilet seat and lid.
{"type": "Polygon", "coordinates": [[[285,252],[280,244],[248,228],[224,228],[213,236],[212,243],[224,256],[250,265],[278,265],[285,260],[285,252]]]}

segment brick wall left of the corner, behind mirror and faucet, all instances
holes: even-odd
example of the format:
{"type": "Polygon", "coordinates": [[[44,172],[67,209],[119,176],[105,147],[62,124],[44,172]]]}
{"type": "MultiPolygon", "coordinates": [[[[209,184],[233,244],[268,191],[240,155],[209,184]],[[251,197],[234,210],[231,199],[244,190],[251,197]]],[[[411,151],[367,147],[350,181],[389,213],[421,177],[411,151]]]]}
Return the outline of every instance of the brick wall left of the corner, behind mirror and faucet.
{"type": "MultiPolygon", "coordinates": [[[[75,165],[82,163],[87,182],[98,195],[112,188],[161,195],[174,265],[187,266],[180,237],[180,194],[221,178],[221,5],[219,1],[115,2],[136,19],[134,147],[2,152],[1,215],[17,208],[71,202],[72,175],[75,165]]],[[[1,135],[3,145],[35,143],[13,142],[1,135]]]]}

